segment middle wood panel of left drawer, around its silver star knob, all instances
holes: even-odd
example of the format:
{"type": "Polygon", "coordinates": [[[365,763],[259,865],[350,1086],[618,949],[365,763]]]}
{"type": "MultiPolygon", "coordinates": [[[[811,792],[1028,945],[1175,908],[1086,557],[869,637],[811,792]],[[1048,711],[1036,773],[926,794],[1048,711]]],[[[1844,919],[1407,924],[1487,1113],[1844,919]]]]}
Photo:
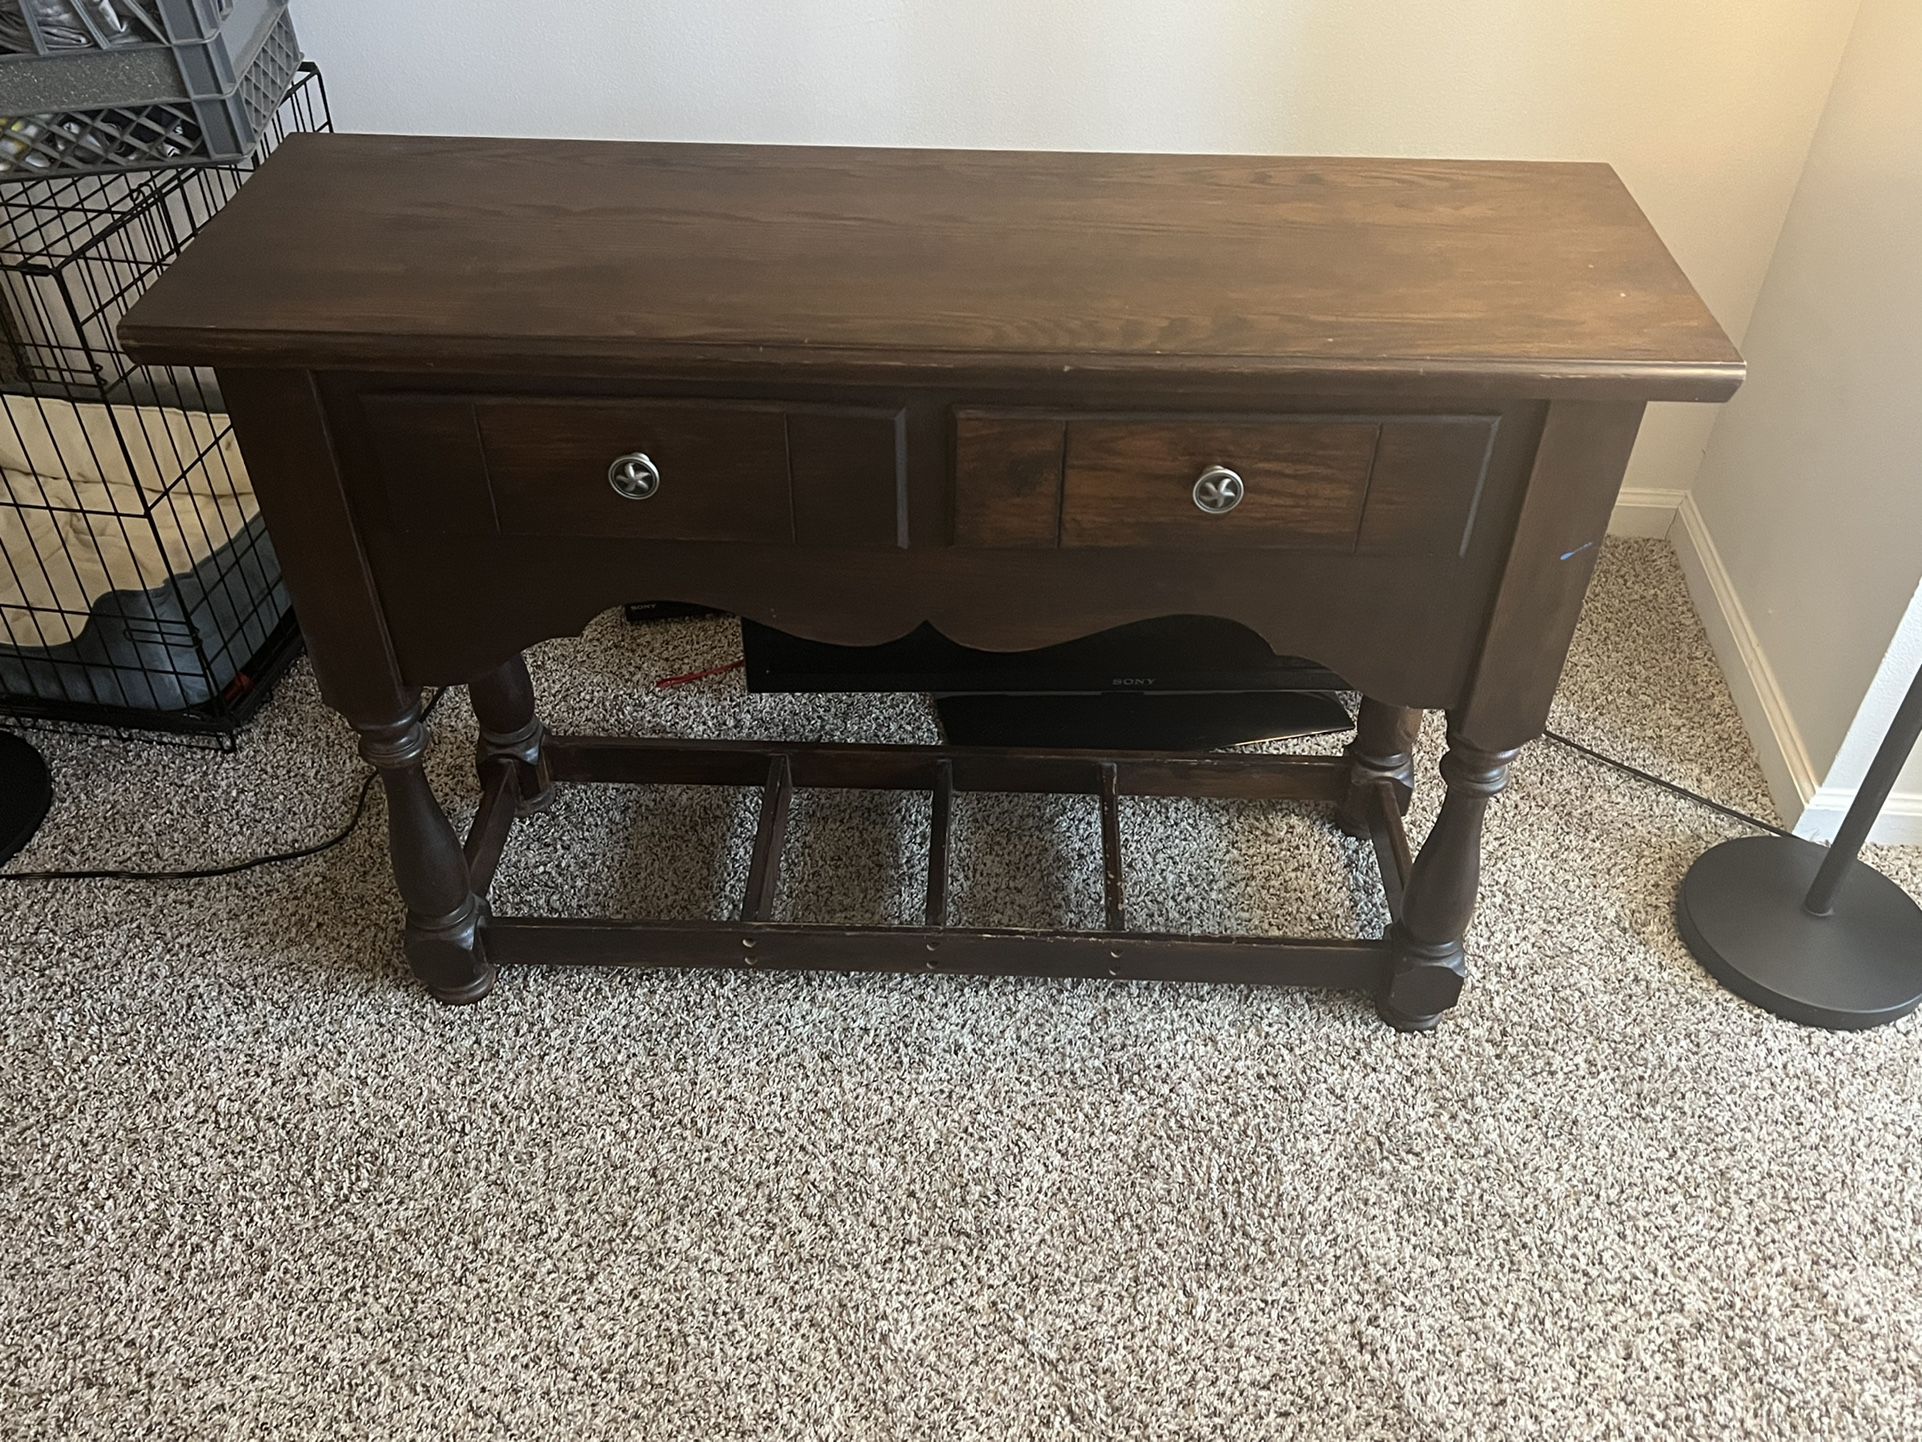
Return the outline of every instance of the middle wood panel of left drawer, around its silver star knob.
{"type": "Polygon", "coordinates": [[[480,400],[494,513],[507,535],[792,540],[788,427],[776,406],[480,400]],[[646,456],[659,486],[619,494],[607,469],[646,456]]]}

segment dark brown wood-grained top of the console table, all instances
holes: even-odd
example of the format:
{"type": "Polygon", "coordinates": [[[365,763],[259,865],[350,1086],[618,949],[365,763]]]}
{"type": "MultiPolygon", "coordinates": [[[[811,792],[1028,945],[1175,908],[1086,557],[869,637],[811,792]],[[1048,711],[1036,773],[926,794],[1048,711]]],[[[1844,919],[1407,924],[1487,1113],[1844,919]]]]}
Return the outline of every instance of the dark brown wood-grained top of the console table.
{"type": "Polygon", "coordinates": [[[300,135],[121,340],[252,365],[994,358],[1636,400],[1741,379],[1614,171],[1545,162],[300,135]]]}

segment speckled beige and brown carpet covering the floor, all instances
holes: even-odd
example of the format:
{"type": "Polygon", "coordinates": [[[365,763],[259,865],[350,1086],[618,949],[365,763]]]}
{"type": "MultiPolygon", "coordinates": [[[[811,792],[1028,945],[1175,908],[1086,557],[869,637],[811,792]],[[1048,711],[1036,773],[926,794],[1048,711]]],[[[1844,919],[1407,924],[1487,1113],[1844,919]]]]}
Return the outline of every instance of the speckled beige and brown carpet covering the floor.
{"type": "MultiPolygon", "coordinates": [[[[604,617],[534,669],[569,729],[930,736],[917,698],[650,686],[730,646],[604,617]]],[[[1557,725],[1766,806],[1657,542],[1609,546],[1557,725]]],[[[236,758],[48,750],[19,865],[296,844],[359,777],[304,671],[236,758]]],[[[803,802],[786,913],[905,917],[923,798],[803,802]]],[[[571,794],[498,906],[719,909],[752,809],[571,794]]],[[[951,977],[509,973],[448,1011],[400,973],[377,821],[233,881],[0,888],[0,1434],[1922,1434],[1916,1025],[1720,992],[1670,904],[1737,829],[1568,752],[1495,806],[1426,1038],[1347,996],[951,977]]],[[[965,919],[1094,917],[1092,806],[961,827],[965,919]]],[[[1311,817],[1126,831],[1146,925],[1380,927],[1311,817]]]]}

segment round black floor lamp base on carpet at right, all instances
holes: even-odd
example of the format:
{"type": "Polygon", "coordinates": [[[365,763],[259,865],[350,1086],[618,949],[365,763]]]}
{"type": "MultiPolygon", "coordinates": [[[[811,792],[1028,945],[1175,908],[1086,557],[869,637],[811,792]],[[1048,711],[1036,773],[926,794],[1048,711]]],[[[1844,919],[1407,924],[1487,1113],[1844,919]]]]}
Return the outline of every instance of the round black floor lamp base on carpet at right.
{"type": "Polygon", "coordinates": [[[1676,919],[1695,959],[1737,996],[1805,1027],[1862,1031],[1922,1006],[1922,907],[1851,861],[1834,911],[1803,898],[1828,850],[1795,836],[1743,836],[1703,854],[1676,919]]]}

